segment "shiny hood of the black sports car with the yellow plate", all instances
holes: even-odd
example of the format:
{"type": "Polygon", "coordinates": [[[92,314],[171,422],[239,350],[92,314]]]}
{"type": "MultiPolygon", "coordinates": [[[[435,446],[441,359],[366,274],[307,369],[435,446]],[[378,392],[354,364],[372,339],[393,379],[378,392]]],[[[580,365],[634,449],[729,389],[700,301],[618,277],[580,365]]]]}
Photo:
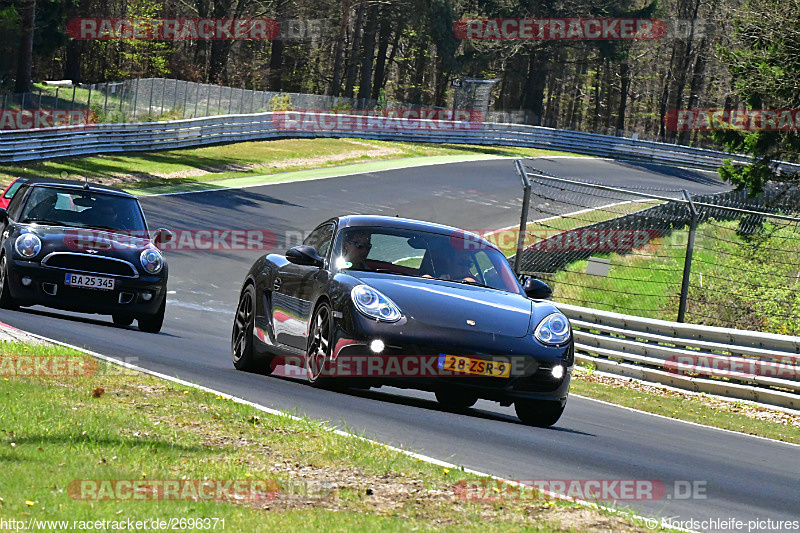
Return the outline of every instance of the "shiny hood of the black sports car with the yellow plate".
{"type": "Polygon", "coordinates": [[[417,322],[509,337],[524,337],[530,331],[533,301],[519,294],[435,279],[350,275],[381,291],[417,322]]]}

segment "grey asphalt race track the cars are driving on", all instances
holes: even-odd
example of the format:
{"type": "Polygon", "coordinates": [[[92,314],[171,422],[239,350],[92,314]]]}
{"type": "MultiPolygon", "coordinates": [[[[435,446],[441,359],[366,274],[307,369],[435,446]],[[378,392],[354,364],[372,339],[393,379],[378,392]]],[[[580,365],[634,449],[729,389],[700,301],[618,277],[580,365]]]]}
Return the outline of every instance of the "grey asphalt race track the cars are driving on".
{"type": "MultiPolygon", "coordinates": [[[[539,159],[538,168],[613,185],[690,192],[727,189],[713,174],[596,159],[539,159]]],[[[347,213],[401,215],[466,229],[519,223],[521,185],[511,160],[414,167],[238,190],[145,197],[151,228],[268,229],[275,251],[347,213]]],[[[572,397],[550,429],[522,425],[513,408],[479,401],[467,414],[432,394],[397,389],[335,393],[301,380],[237,372],[233,313],[259,251],[168,253],[170,296],[159,335],[114,327],[110,317],[42,307],[0,311],[0,321],[85,346],[277,409],[512,479],[660,480],[667,495],[621,505],[673,520],[798,520],[797,446],[709,429],[572,397]],[[678,492],[676,493],[676,482],[678,492]],[[698,489],[694,497],[686,487],[698,489]]],[[[746,527],[746,526],[745,526],[746,527]]]]}

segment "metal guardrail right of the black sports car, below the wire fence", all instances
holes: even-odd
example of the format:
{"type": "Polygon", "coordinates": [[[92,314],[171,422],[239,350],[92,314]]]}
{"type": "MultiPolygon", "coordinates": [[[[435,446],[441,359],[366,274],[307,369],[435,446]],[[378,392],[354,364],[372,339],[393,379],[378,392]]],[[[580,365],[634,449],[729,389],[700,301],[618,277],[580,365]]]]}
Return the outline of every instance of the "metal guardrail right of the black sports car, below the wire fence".
{"type": "Polygon", "coordinates": [[[575,359],[615,375],[800,409],[800,337],[556,304],[575,359]]]}

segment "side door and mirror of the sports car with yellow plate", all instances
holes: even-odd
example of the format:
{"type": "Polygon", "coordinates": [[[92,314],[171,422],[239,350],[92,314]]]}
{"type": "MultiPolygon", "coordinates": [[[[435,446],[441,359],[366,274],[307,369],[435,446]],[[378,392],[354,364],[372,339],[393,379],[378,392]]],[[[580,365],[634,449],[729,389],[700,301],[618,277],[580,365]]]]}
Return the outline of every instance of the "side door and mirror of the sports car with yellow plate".
{"type": "Polygon", "coordinates": [[[325,258],[325,266],[297,265],[287,262],[278,269],[272,286],[272,324],[275,340],[305,350],[308,322],[320,287],[328,279],[330,248],[336,225],[326,222],[303,241],[325,258]]]}

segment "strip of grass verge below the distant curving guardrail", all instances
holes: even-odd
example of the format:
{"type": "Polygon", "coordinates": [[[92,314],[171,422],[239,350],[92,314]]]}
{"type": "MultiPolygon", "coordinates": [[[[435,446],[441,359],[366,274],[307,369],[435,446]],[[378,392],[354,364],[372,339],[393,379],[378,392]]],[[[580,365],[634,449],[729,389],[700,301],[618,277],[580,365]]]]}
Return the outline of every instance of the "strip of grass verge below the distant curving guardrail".
{"type": "Polygon", "coordinates": [[[192,183],[327,168],[365,161],[453,155],[575,155],[532,148],[423,144],[359,139],[283,139],[203,148],[97,155],[0,165],[0,182],[15,176],[116,180],[127,188],[192,183]]]}

